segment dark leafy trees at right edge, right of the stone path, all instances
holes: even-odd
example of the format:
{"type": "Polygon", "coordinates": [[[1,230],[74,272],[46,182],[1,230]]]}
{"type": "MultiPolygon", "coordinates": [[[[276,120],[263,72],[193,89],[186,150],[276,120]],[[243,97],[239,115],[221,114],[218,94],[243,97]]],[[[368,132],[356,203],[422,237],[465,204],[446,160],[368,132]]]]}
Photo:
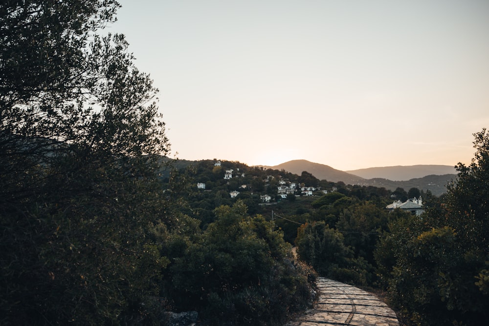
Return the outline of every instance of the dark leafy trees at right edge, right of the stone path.
{"type": "Polygon", "coordinates": [[[481,325],[489,317],[489,134],[474,137],[474,158],[458,164],[446,195],[422,217],[394,222],[379,242],[391,299],[420,325],[481,325]]]}

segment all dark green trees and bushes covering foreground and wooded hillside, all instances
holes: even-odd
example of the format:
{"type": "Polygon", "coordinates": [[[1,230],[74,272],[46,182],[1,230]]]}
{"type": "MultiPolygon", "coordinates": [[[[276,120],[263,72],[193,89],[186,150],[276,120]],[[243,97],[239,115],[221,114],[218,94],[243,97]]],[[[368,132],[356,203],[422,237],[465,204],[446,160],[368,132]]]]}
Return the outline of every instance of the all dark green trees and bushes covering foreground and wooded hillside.
{"type": "Polygon", "coordinates": [[[240,162],[178,168],[151,79],[122,35],[98,34],[117,7],[0,6],[0,324],[196,310],[204,325],[280,325],[312,304],[316,273],[386,289],[413,325],[487,320],[486,130],[439,198],[240,162]],[[385,210],[419,196],[421,216],[385,210]]]}

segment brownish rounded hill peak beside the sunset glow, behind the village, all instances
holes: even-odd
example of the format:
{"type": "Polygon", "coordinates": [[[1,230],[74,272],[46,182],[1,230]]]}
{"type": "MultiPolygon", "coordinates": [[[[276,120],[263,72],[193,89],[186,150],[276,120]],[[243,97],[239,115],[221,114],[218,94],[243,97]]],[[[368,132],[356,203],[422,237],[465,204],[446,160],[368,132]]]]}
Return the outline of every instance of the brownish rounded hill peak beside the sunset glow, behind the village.
{"type": "Polygon", "coordinates": [[[307,171],[319,180],[333,182],[343,181],[346,184],[363,183],[364,178],[344,171],[336,170],[329,165],[313,163],[307,160],[292,160],[275,166],[263,166],[264,169],[285,170],[287,172],[301,175],[307,171]]]}

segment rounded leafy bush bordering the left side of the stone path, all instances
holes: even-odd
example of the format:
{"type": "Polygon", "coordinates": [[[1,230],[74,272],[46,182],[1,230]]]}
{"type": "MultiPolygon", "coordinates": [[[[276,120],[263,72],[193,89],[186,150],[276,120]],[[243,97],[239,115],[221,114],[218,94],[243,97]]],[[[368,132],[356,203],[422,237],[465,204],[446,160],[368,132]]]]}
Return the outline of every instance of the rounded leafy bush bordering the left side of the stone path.
{"type": "Polygon", "coordinates": [[[187,244],[165,286],[181,310],[199,310],[212,325],[279,325],[308,306],[315,274],[294,261],[290,245],[238,200],[216,208],[216,221],[187,244]]]}

